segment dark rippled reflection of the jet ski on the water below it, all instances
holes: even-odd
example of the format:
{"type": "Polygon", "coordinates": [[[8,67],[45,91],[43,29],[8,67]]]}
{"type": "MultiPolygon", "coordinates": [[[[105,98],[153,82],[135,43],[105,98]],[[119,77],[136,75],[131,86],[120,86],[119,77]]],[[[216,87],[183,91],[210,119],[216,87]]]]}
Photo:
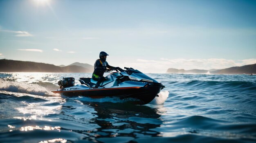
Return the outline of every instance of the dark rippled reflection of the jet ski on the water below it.
{"type": "Polygon", "coordinates": [[[156,108],[124,103],[83,103],[96,111],[92,113],[94,118],[90,123],[99,125],[96,131],[91,132],[98,141],[104,142],[105,138],[107,141],[107,137],[130,136],[134,139],[160,134],[152,130],[162,124],[156,108]]]}

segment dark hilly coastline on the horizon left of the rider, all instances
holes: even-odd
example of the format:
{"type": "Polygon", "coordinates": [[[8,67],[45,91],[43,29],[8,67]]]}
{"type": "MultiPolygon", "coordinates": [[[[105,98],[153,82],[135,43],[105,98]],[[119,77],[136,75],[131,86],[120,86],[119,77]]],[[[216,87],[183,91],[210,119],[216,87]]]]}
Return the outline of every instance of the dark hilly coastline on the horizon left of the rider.
{"type": "Polygon", "coordinates": [[[68,66],[0,59],[0,72],[92,73],[90,64],[73,63],[68,66]]]}

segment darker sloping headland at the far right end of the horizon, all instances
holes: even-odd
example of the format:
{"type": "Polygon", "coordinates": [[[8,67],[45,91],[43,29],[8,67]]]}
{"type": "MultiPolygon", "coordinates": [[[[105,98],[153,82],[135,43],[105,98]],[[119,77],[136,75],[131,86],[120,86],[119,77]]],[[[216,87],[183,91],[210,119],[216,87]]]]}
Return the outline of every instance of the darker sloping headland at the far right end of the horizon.
{"type": "Polygon", "coordinates": [[[256,64],[235,66],[210,72],[212,74],[256,74],[256,64]]]}

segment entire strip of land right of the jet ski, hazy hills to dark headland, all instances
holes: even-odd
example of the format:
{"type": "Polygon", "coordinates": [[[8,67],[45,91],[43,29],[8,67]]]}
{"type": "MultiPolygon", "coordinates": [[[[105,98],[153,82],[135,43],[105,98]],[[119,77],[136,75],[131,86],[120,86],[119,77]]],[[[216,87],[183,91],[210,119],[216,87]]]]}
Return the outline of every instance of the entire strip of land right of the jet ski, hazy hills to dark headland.
{"type": "Polygon", "coordinates": [[[194,74],[256,74],[256,64],[246,65],[246,66],[236,66],[231,68],[225,68],[221,70],[211,69],[211,70],[184,70],[176,68],[168,68],[166,73],[194,73],[194,74]]]}

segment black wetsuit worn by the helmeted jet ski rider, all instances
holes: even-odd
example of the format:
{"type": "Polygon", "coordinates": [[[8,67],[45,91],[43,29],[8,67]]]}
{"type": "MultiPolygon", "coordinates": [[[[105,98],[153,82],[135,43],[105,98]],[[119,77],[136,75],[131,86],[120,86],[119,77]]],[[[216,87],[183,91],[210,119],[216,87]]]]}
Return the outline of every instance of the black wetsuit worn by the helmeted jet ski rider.
{"type": "Polygon", "coordinates": [[[114,66],[110,66],[108,62],[103,61],[101,59],[97,59],[94,63],[94,71],[92,73],[92,79],[98,81],[95,85],[95,88],[99,87],[99,84],[104,81],[105,77],[103,74],[105,73],[107,68],[115,68],[114,66]]]}

